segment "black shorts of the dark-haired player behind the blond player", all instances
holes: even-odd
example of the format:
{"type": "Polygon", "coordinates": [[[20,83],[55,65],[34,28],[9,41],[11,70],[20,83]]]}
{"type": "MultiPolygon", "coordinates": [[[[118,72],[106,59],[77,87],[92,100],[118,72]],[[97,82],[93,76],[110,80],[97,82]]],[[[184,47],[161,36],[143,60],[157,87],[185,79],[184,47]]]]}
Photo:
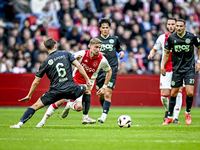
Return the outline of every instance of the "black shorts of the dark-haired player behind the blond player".
{"type": "MultiPolygon", "coordinates": [[[[109,89],[114,89],[115,88],[115,83],[117,80],[117,71],[118,71],[118,67],[117,66],[113,66],[111,67],[112,69],[112,76],[110,78],[110,81],[108,83],[108,88],[109,89]]],[[[98,77],[96,79],[96,89],[97,91],[103,86],[104,82],[105,82],[105,78],[106,78],[106,72],[103,70],[100,70],[98,73],[98,77]]]]}

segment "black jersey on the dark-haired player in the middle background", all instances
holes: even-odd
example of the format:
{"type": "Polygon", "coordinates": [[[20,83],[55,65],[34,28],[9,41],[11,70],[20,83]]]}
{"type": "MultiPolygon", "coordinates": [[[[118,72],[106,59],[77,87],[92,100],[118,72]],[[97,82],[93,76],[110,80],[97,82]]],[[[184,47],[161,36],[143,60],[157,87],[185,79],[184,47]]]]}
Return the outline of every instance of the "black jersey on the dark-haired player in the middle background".
{"type": "Polygon", "coordinates": [[[100,39],[103,43],[101,45],[100,51],[105,53],[104,57],[108,60],[109,65],[117,66],[118,60],[116,52],[123,51],[120,42],[117,36],[109,35],[107,38],[104,38],[102,35],[97,36],[96,38],[100,39]]]}

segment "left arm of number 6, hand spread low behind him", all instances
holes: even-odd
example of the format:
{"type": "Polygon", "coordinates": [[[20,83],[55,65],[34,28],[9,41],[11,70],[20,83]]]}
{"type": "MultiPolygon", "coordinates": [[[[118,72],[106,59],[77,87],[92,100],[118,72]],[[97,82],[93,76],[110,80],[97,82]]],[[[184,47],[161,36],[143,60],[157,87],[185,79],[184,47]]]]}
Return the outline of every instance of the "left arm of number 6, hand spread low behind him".
{"type": "Polygon", "coordinates": [[[35,90],[37,89],[37,86],[40,83],[40,80],[41,80],[40,78],[35,77],[35,79],[32,82],[32,85],[31,85],[31,88],[29,90],[28,95],[26,97],[18,100],[18,101],[20,101],[20,102],[23,102],[23,101],[28,102],[31,99],[31,96],[33,95],[33,93],[35,92],[35,90]]]}

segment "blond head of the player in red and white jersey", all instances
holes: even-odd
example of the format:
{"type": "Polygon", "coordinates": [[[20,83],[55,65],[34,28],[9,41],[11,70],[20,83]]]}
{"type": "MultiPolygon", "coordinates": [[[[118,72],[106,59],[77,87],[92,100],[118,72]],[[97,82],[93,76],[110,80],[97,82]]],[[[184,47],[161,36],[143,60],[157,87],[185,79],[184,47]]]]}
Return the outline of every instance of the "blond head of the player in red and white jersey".
{"type": "Polygon", "coordinates": [[[90,40],[90,53],[92,54],[92,57],[98,56],[99,51],[101,49],[102,41],[98,38],[92,38],[90,40]]]}

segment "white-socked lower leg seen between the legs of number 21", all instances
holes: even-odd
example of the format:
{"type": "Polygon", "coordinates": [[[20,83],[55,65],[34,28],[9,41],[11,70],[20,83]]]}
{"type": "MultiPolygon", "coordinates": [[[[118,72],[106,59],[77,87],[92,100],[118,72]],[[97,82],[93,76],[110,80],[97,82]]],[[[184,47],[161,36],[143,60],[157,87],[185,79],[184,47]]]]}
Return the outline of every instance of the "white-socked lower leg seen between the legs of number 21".
{"type": "Polygon", "coordinates": [[[178,116],[180,114],[181,106],[182,106],[182,97],[183,97],[182,91],[183,91],[183,87],[181,86],[179,91],[178,91],[178,95],[176,97],[176,105],[174,107],[174,121],[173,121],[173,123],[179,123],[178,116]]]}

